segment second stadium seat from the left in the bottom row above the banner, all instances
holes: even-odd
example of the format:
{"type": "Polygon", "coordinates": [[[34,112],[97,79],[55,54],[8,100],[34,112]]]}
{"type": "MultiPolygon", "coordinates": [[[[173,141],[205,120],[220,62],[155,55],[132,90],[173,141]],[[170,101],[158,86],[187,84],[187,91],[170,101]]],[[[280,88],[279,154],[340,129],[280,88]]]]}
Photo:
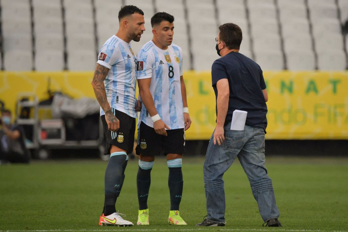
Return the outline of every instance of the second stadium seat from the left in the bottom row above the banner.
{"type": "Polygon", "coordinates": [[[62,50],[41,50],[35,53],[36,71],[62,71],[64,54],[62,50]]]}

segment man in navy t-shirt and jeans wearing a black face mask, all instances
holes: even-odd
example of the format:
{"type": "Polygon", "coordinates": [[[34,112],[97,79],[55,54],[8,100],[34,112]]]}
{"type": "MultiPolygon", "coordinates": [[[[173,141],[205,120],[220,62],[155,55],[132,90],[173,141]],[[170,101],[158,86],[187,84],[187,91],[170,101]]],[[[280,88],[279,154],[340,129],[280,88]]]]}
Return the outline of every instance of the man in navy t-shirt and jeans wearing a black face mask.
{"type": "Polygon", "coordinates": [[[203,168],[208,217],[197,226],[226,224],[222,176],[236,157],[249,179],[264,225],[281,226],[272,180],[264,166],[268,95],[262,70],[252,59],[239,53],[242,30],[238,25],[220,25],[215,41],[217,54],[222,57],[212,65],[216,127],[203,168]],[[235,110],[247,111],[244,130],[231,130],[235,110]]]}

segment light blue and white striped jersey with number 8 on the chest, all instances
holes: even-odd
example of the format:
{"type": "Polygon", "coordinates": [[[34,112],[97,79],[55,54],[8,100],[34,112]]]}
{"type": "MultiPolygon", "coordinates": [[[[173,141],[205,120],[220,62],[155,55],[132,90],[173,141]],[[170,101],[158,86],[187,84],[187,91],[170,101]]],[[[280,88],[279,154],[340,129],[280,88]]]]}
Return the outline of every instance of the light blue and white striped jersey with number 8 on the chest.
{"type": "MultiPolygon", "coordinates": [[[[137,79],[151,78],[150,92],[161,119],[171,129],[184,128],[181,48],[172,43],[167,50],[162,50],[150,40],[139,51],[137,60],[137,79]]],[[[143,103],[140,121],[153,127],[151,116],[143,103]]]]}

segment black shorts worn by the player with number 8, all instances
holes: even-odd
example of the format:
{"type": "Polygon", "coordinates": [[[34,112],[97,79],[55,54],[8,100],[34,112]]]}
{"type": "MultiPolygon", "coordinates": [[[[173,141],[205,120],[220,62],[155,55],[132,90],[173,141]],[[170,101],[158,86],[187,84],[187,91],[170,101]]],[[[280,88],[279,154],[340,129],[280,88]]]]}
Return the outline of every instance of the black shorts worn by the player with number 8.
{"type": "Polygon", "coordinates": [[[137,155],[160,155],[162,151],[164,155],[183,154],[185,152],[184,128],[167,130],[167,136],[164,136],[157,134],[155,129],[141,122],[135,151],[137,155]]]}

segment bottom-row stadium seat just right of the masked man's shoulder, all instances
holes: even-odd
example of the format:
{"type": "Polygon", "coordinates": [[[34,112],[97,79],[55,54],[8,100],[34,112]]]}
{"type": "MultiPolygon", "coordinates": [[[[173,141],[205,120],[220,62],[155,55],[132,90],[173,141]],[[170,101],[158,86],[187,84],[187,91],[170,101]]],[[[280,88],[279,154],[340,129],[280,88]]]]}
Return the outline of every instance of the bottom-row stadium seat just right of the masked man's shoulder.
{"type": "Polygon", "coordinates": [[[258,63],[262,70],[283,70],[284,59],[281,51],[257,51],[255,52],[255,62],[258,63]]]}

